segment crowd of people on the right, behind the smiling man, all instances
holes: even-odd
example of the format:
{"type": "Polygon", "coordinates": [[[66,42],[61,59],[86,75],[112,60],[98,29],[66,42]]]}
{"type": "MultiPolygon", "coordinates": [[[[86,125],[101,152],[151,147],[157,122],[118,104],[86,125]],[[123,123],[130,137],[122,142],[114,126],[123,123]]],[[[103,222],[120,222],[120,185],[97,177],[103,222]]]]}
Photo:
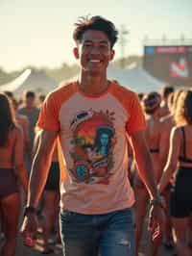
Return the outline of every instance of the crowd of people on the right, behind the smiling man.
{"type": "MultiPolygon", "coordinates": [[[[151,92],[143,95],[141,104],[148,123],[146,140],[155,167],[158,190],[166,200],[165,235],[164,238],[159,236],[151,243],[151,253],[156,255],[159,244],[164,243],[167,249],[176,246],[178,255],[191,255],[192,193],[187,183],[191,182],[192,167],[190,165],[192,163],[190,163],[192,91],[183,89],[174,91],[173,87],[163,87],[161,93],[151,92]],[[176,131],[179,133],[177,137],[176,131]]],[[[136,197],[135,222],[138,248],[149,195],[138,178],[135,165],[132,165],[132,176],[136,197]]]]}

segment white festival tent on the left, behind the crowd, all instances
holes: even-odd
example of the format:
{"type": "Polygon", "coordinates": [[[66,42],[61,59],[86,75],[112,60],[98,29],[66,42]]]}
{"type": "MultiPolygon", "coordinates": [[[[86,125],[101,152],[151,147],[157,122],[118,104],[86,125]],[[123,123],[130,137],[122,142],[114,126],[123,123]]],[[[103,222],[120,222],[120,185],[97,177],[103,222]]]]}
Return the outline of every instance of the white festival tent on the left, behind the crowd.
{"type": "Polygon", "coordinates": [[[37,93],[47,94],[57,86],[57,82],[53,78],[48,77],[44,71],[26,69],[10,83],[0,86],[0,91],[12,91],[15,96],[20,96],[25,90],[34,90],[37,93]]]}

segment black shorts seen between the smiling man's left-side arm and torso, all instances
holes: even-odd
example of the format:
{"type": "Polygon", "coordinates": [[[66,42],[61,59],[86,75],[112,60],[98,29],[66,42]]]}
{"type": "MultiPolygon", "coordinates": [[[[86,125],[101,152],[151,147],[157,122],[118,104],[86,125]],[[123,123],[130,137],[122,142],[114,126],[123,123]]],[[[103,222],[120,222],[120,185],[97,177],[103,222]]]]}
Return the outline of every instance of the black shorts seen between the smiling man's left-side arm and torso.
{"type": "Polygon", "coordinates": [[[60,191],[60,165],[59,162],[52,162],[45,184],[45,191],[60,191]]]}

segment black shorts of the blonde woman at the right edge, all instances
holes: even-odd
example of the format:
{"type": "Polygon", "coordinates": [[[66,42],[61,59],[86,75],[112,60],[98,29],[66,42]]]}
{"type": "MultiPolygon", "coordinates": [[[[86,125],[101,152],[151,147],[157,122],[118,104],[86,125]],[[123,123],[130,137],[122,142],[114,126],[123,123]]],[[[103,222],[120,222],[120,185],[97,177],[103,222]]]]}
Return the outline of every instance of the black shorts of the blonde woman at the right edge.
{"type": "Polygon", "coordinates": [[[192,214],[192,167],[180,167],[170,196],[170,215],[186,218],[192,214]]]}

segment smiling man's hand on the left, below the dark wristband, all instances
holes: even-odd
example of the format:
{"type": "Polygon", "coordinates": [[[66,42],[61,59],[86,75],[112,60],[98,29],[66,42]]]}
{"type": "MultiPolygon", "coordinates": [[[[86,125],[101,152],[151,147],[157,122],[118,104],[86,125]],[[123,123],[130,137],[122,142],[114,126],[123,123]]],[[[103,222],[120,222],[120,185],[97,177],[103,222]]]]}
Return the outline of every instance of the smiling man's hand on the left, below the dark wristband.
{"type": "Polygon", "coordinates": [[[34,240],[36,238],[36,231],[38,227],[38,222],[36,214],[28,214],[25,216],[20,232],[23,236],[23,242],[27,246],[33,247],[35,245],[34,240]]]}

